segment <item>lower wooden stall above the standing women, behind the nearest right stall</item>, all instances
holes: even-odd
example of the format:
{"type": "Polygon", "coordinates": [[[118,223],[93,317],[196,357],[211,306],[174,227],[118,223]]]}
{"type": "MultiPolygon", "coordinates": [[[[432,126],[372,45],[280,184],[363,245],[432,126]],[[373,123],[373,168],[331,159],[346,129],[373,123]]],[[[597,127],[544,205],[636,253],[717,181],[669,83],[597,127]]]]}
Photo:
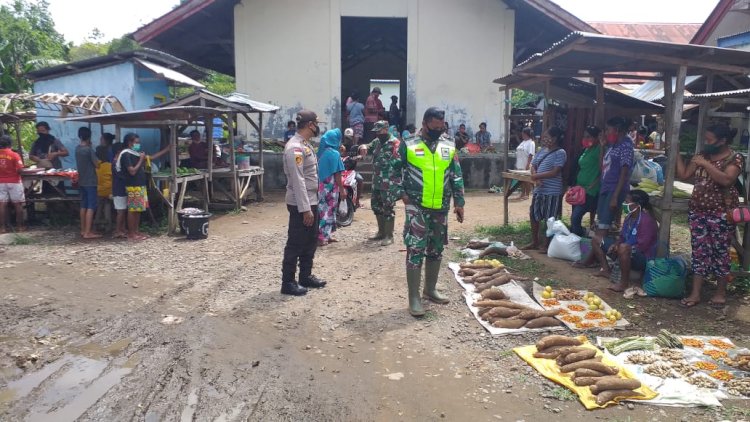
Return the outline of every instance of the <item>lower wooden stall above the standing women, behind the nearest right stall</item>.
{"type": "MultiPolygon", "coordinates": [[[[567,130],[564,149],[570,157],[577,156],[582,147],[576,139],[583,133],[586,125],[592,124],[594,110],[596,108],[597,89],[596,85],[581,81],[575,78],[540,78],[535,76],[508,75],[503,78],[495,79],[495,83],[505,86],[506,90],[521,88],[531,92],[543,92],[546,102],[544,113],[542,115],[542,130],[547,130],[550,126],[558,125],[559,116],[556,116],[553,104],[565,104],[567,130]]],[[[638,116],[663,114],[664,107],[648,101],[639,100],[627,94],[604,88],[604,98],[607,108],[606,116],[615,115],[638,116]]],[[[506,137],[509,139],[510,121],[514,113],[506,104],[506,137]]],[[[600,126],[601,127],[601,126],[600,126]]],[[[541,134],[537,134],[541,135],[541,134]]],[[[510,143],[505,143],[503,148],[503,162],[506,170],[503,172],[503,224],[508,224],[508,199],[520,184],[515,182],[531,182],[531,176],[528,172],[508,170],[510,143]],[[514,184],[515,183],[515,184],[514,184]]],[[[571,163],[571,160],[568,161],[571,163]]],[[[566,170],[570,170],[567,167],[566,170]]],[[[566,173],[566,172],[564,172],[566,173]]],[[[565,177],[564,177],[565,178],[565,177]]]]}

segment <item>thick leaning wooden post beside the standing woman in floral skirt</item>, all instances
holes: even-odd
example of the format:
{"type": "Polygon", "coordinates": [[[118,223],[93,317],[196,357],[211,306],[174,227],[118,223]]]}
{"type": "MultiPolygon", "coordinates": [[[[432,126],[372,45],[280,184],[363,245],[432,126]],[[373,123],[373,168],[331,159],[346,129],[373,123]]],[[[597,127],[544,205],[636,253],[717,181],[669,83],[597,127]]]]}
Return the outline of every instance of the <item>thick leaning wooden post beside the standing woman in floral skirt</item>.
{"type": "Polygon", "coordinates": [[[664,175],[664,197],[661,202],[661,225],[659,226],[659,243],[657,245],[657,256],[665,257],[669,254],[669,236],[672,225],[672,190],[674,189],[675,169],[677,159],[680,157],[680,125],[682,124],[682,104],[685,99],[685,77],[687,66],[680,66],[677,71],[674,94],[672,94],[672,78],[665,75],[665,87],[669,85],[669,100],[667,112],[669,113],[669,150],[667,152],[667,171],[664,175]]]}

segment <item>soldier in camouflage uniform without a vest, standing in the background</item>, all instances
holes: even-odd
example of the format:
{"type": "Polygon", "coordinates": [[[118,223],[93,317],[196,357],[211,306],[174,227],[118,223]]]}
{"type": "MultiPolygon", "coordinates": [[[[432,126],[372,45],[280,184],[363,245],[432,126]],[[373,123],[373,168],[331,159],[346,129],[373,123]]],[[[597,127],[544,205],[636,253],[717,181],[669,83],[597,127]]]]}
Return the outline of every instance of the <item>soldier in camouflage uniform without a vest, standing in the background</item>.
{"type": "Polygon", "coordinates": [[[372,151],[372,212],[378,220],[378,233],[371,240],[381,240],[387,246],[393,243],[393,226],[396,213],[393,207],[400,198],[401,163],[398,155],[400,141],[388,132],[388,122],[380,120],[372,129],[377,138],[359,148],[364,155],[372,151]]]}

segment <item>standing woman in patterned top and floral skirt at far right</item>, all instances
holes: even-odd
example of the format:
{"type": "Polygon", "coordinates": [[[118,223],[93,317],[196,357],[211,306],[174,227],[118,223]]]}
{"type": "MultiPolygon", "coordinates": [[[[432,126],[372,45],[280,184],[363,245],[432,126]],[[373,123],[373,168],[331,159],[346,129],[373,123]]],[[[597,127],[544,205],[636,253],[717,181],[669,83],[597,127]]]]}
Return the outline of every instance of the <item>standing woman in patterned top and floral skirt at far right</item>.
{"type": "Polygon", "coordinates": [[[709,305],[715,308],[726,305],[729,246],[735,232],[734,224],[727,220],[727,212],[739,205],[735,185],[745,166],[742,154],[729,147],[735,135],[737,129],[711,126],[706,130],[702,152],[688,164],[677,160],[677,178],[694,182],[688,202],[693,288],[690,295],[682,299],[681,305],[686,308],[700,303],[706,277],[715,277],[718,287],[709,305]]]}

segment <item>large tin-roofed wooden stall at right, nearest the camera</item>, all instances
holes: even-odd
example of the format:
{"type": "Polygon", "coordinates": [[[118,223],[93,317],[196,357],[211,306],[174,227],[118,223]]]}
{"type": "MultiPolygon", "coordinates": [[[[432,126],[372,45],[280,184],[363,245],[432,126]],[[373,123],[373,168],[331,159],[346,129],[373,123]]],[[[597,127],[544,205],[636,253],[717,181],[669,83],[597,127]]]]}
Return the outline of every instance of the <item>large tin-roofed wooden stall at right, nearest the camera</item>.
{"type": "MultiPolygon", "coordinates": [[[[596,84],[595,121],[605,121],[604,78],[656,79],[664,83],[667,154],[664,198],[661,204],[659,256],[669,253],[672,222],[672,192],[679,151],[679,133],[688,75],[718,75],[747,78],[750,52],[691,44],[612,37],[573,32],[546,51],[535,54],[513,69],[513,75],[546,81],[559,77],[593,78],[596,84]],[[643,75],[640,72],[653,74],[643,75]]],[[[710,78],[709,78],[710,79],[710,78]]],[[[505,88],[509,98],[510,88],[505,88]]],[[[746,166],[746,177],[750,166],[746,166]]],[[[748,227],[746,227],[747,232],[748,227]]],[[[745,261],[750,257],[750,242],[745,242],[745,261]]]]}

